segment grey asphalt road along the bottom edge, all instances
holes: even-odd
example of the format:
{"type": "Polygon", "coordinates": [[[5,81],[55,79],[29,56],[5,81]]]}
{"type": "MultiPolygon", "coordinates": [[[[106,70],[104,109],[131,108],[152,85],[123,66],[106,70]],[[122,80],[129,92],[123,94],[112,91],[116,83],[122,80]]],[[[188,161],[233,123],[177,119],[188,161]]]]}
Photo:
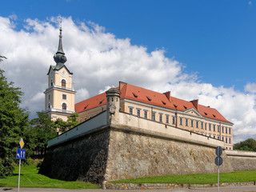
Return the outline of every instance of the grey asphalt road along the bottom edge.
{"type": "MultiPolygon", "coordinates": [[[[9,188],[9,187],[0,187],[0,191],[7,192],[18,192],[18,188],[9,188]]],[[[63,190],[63,189],[46,189],[46,188],[20,188],[20,192],[138,192],[138,191],[147,191],[147,192],[208,192],[208,191],[218,191],[218,187],[210,188],[197,188],[197,189],[181,189],[181,190],[63,190]]],[[[231,192],[256,192],[256,186],[223,186],[220,187],[219,191],[231,191],[231,192]]]]}

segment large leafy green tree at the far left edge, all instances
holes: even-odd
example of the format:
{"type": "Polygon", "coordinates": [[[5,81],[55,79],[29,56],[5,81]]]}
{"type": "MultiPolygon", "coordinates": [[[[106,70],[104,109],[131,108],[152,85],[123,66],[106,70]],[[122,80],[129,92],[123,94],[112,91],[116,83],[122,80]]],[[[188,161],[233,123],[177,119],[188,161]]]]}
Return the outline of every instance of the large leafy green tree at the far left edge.
{"type": "MultiPolygon", "coordinates": [[[[0,56],[2,62],[3,56],[0,56]]],[[[29,122],[29,114],[22,109],[22,91],[7,82],[4,71],[0,69],[0,175],[10,175],[14,169],[18,142],[29,122]]]]}

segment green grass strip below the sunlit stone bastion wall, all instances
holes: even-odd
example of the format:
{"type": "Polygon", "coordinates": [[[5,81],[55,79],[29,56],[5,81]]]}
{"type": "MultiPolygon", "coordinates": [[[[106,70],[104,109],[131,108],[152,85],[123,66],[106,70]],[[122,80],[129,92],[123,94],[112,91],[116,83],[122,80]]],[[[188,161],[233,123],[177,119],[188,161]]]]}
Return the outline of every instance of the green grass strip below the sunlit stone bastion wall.
{"type": "MultiPolygon", "coordinates": [[[[232,173],[220,173],[220,182],[254,182],[256,170],[239,170],[232,173]]],[[[183,174],[134,178],[114,181],[114,183],[177,183],[177,184],[214,184],[218,174],[183,174]]]]}

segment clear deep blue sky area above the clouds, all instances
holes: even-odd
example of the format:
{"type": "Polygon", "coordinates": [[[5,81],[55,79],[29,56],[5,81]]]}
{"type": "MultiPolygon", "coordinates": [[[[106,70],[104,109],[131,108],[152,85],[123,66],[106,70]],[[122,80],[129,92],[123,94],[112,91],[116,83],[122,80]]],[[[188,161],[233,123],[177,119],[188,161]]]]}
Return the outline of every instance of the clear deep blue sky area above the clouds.
{"type": "MultiPolygon", "coordinates": [[[[198,73],[214,86],[243,90],[254,82],[256,1],[5,1],[1,14],[18,20],[71,16],[95,22],[117,38],[130,38],[148,51],[166,50],[166,57],[198,73]]],[[[21,27],[21,26],[19,26],[21,27]]]]}

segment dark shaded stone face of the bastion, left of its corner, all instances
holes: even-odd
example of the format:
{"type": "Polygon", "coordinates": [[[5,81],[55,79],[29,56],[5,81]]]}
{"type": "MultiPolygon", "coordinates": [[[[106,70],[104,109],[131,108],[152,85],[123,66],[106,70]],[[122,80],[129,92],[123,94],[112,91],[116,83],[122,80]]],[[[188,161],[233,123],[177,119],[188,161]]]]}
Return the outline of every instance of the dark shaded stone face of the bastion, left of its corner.
{"type": "Polygon", "coordinates": [[[47,150],[39,174],[67,181],[105,180],[110,129],[104,127],[47,150]]]}

